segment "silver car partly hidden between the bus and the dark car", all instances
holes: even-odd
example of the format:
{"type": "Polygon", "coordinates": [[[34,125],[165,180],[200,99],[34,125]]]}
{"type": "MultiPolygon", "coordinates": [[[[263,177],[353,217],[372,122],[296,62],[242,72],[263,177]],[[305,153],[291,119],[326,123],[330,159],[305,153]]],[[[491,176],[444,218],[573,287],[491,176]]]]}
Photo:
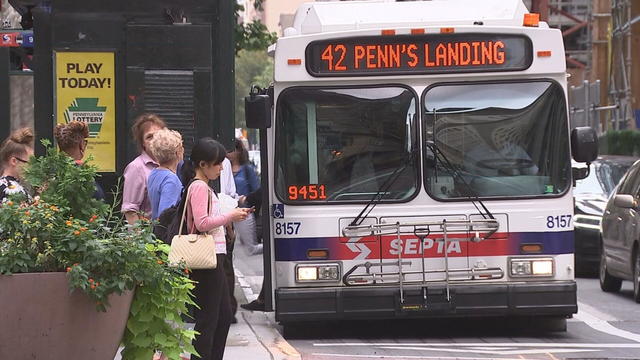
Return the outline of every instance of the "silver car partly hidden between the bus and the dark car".
{"type": "Polygon", "coordinates": [[[598,273],[602,213],[611,192],[636,160],[633,156],[600,156],[591,164],[589,176],[576,181],[573,189],[576,273],[598,273]]]}

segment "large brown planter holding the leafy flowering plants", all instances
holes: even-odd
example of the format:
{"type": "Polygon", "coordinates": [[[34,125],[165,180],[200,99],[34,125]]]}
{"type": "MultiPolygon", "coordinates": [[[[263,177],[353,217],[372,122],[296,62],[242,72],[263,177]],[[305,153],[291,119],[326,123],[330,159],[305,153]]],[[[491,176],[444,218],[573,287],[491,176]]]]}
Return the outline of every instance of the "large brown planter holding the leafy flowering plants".
{"type": "Polygon", "coordinates": [[[112,295],[106,313],[65,273],[0,276],[0,359],[113,360],[133,292],[112,295]]]}

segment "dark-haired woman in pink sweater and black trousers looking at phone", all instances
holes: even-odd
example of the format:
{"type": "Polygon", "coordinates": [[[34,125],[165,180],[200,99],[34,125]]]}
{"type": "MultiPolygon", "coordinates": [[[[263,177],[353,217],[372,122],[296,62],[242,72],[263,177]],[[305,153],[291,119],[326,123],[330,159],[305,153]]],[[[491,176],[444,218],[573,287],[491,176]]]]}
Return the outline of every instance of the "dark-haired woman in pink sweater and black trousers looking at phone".
{"type": "MultiPolygon", "coordinates": [[[[209,233],[216,242],[218,264],[224,262],[226,241],[224,226],[247,218],[251,209],[234,209],[220,213],[218,196],[209,187],[209,181],[220,176],[226,150],[211,139],[198,140],[191,156],[182,166],[182,178],[189,184],[187,199],[187,230],[190,234],[209,233]]],[[[182,202],[184,203],[184,202],[182,202]]],[[[179,209],[182,212],[182,209],[179,209]]],[[[193,345],[200,356],[191,359],[222,360],[227,334],[231,326],[229,289],[222,266],[210,270],[193,270],[191,279],[196,281],[193,291],[198,308],[195,309],[195,330],[200,333],[193,345]]]]}

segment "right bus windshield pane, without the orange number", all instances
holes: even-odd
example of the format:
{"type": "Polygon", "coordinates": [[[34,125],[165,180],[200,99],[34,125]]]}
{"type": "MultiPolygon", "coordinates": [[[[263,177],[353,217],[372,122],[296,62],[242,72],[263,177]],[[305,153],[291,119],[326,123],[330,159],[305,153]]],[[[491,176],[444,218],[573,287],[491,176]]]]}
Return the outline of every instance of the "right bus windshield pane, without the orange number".
{"type": "Polygon", "coordinates": [[[431,87],[424,129],[458,172],[425,150],[436,199],[554,196],[571,184],[564,92],[550,81],[431,87]]]}

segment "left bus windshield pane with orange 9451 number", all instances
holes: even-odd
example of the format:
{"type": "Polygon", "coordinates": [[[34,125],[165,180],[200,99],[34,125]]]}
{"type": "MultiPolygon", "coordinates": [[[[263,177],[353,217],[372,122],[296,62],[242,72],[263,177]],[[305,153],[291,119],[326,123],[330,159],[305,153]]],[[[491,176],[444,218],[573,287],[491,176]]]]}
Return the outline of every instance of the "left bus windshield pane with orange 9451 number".
{"type": "Polygon", "coordinates": [[[276,115],[276,194],[285,202],[382,201],[418,189],[417,97],[400,86],[290,88],[276,115]],[[410,160],[413,159],[413,160],[410,160]]]}

